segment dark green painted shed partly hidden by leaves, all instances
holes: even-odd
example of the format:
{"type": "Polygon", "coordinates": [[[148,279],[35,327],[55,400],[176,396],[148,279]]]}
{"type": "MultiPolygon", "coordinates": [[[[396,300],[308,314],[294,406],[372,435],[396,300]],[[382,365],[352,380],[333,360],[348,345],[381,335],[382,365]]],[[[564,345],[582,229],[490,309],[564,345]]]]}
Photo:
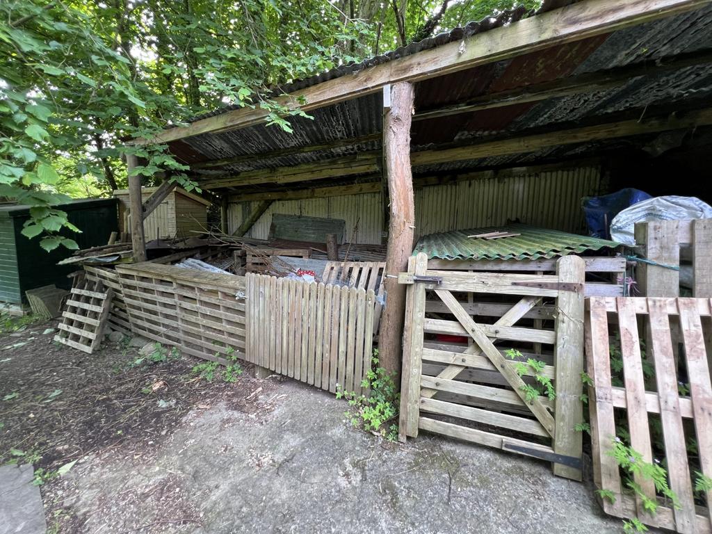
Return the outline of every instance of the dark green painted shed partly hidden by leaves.
{"type": "MultiPolygon", "coordinates": [[[[79,248],[105,245],[112,231],[118,231],[117,199],[80,199],[56,206],[66,211],[70,223],[82,232],[63,229],[61,234],[74,239],[79,248]]],[[[21,234],[29,219],[30,206],[0,205],[0,302],[21,304],[25,291],[54,284],[70,288],[67,275],[74,266],[58,266],[72,251],[58,247],[51,252],[40,246],[38,238],[21,234]]]]}

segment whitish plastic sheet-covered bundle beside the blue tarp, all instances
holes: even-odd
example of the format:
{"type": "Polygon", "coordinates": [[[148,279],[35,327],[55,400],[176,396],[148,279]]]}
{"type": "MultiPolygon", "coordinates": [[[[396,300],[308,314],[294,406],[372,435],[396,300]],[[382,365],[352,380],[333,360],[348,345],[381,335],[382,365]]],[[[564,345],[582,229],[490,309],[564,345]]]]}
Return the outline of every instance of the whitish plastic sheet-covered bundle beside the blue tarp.
{"type": "Polygon", "coordinates": [[[611,239],[634,246],[636,223],[693,219],[712,219],[712,206],[696,197],[655,197],[633,204],[614,216],[611,221],[611,239]]]}

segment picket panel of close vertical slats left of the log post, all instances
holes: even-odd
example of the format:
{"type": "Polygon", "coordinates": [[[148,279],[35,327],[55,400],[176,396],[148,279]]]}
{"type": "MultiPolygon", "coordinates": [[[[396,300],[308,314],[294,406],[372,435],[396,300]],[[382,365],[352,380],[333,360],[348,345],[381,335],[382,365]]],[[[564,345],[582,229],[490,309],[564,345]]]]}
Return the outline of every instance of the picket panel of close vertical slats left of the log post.
{"type": "Polygon", "coordinates": [[[246,299],[246,360],[330,392],[365,392],[374,290],[248,273],[246,299]]]}

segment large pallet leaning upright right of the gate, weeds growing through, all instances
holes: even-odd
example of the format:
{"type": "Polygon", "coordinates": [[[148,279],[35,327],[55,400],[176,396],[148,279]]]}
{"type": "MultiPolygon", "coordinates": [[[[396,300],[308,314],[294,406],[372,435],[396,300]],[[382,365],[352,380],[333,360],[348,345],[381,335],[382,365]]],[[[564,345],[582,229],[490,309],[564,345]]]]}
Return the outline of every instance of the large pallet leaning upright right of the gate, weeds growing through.
{"type": "MultiPolygon", "coordinates": [[[[594,480],[597,488],[611,492],[614,501],[602,499],[604,511],[622,518],[637,517],[643,523],[679,533],[710,533],[711,498],[706,507],[693,500],[691,471],[712,477],[712,386],[705,338],[709,336],[711,300],[706,298],[591,298],[586,320],[586,352],[590,387],[590,415],[594,480]],[[609,317],[610,315],[610,317],[609,317]],[[646,360],[654,365],[654,380],[644,382],[643,358],[639,343],[639,315],[651,325],[651,345],[646,360]],[[670,322],[681,325],[684,355],[680,367],[675,360],[670,322]],[[616,332],[609,331],[609,319],[620,335],[624,387],[612,386],[610,343],[616,332]],[[679,393],[679,369],[686,370],[689,394],[679,393]],[[616,419],[627,417],[630,446],[652,462],[651,417],[659,417],[664,436],[664,462],[669,485],[679,498],[680,508],[661,501],[652,481],[634,477],[648,498],[659,501],[655,515],[646,513],[642,500],[624,492],[617,462],[610,455],[616,439],[616,419]],[[691,468],[686,450],[688,437],[697,442],[698,466],[691,468]]],[[[662,459],[659,459],[662,461],[662,459]]]]}

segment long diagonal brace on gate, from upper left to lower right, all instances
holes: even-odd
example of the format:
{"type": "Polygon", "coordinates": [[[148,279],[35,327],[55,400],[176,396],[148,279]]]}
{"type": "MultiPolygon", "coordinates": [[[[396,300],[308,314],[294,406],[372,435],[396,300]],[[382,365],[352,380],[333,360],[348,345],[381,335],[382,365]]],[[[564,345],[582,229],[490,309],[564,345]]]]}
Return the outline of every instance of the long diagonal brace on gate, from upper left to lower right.
{"type": "Polygon", "coordinates": [[[523,387],[525,386],[522,377],[520,377],[517,372],[511,367],[504,356],[499,352],[497,347],[495,347],[487,337],[483,328],[475,323],[475,321],[470,317],[466,310],[460,305],[457,299],[446,289],[436,289],[435,293],[439,296],[440,300],[450,308],[450,311],[455,315],[457,320],[461,325],[468,331],[472,339],[481,348],[482,352],[489,358],[492,364],[501,372],[502,376],[507,380],[509,385],[514,389],[514,392],[518,394],[525,406],[531,410],[534,417],[542,424],[549,435],[554,439],[556,423],[554,418],[549,413],[548,409],[539,399],[532,399],[527,402],[526,393],[523,387]]]}

